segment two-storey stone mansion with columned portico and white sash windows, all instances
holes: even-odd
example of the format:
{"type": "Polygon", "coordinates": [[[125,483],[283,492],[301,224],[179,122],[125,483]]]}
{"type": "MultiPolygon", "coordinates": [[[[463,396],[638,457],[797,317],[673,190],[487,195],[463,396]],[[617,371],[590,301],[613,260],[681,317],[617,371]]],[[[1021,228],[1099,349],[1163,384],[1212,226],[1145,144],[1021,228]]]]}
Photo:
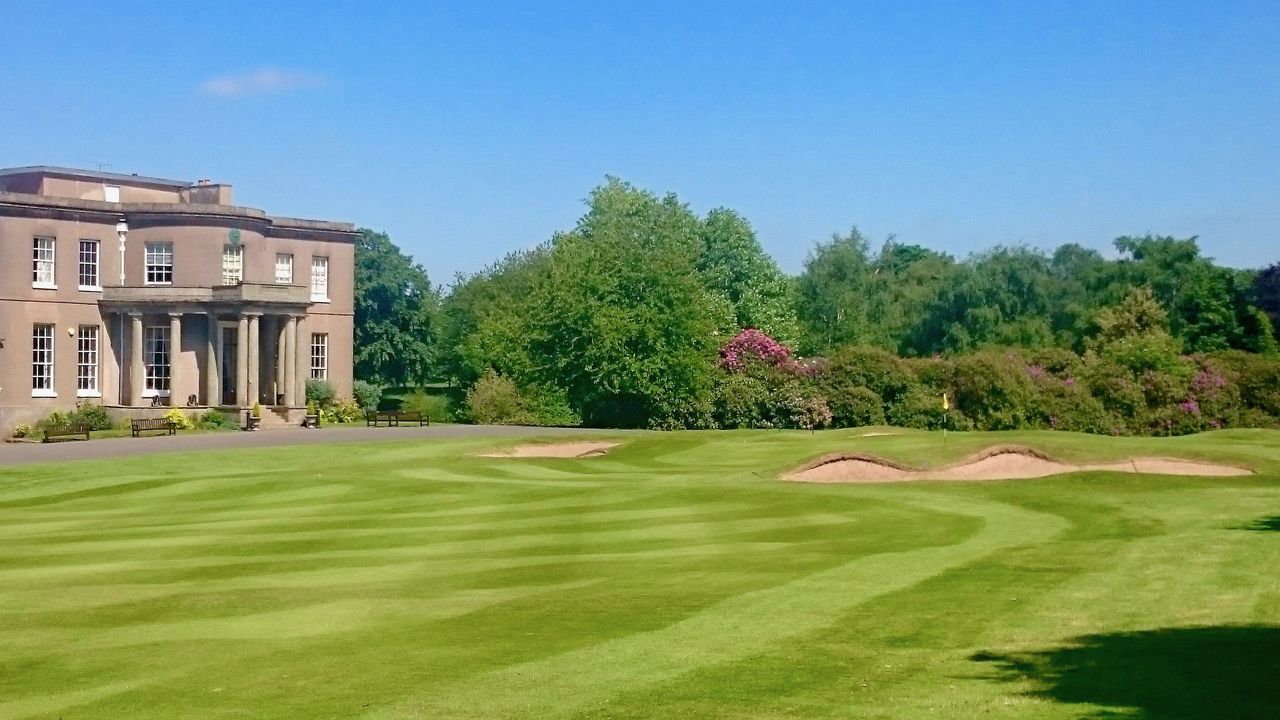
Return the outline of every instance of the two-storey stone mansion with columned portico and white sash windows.
{"type": "Polygon", "coordinates": [[[349,396],[356,237],[209,181],[0,169],[0,434],[83,401],[292,423],[307,378],[349,396]]]}

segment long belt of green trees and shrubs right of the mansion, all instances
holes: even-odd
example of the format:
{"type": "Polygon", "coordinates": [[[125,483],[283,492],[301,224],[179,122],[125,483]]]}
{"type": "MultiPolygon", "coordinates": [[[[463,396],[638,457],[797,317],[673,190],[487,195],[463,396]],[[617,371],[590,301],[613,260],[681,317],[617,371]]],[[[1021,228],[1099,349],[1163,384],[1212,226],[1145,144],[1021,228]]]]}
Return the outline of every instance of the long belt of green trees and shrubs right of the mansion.
{"type": "Polygon", "coordinates": [[[1212,355],[1247,368],[1240,392],[1271,413],[1257,379],[1271,365],[1230,354],[1276,354],[1280,264],[1224,268],[1194,237],[1114,247],[956,259],[895,237],[873,247],[851,228],[787,277],[739,213],[699,215],[608,178],[571,229],[456,278],[443,300],[390,238],[362,231],[356,370],[457,380],[484,401],[477,416],[511,421],[933,427],[950,389],[975,427],[1172,432],[1236,421],[1212,355]],[[732,338],[767,338],[788,360],[726,374],[732,338]]]}

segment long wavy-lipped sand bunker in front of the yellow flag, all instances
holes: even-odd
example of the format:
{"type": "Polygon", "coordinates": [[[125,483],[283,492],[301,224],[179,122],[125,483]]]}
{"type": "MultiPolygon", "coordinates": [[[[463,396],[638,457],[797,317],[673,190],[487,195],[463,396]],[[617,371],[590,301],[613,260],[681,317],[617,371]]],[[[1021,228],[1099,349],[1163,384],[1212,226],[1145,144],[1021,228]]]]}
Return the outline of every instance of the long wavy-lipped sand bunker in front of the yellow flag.
{"type": "Polygon", "coordinates": [[[788,475],[804,483],[901,483],[910,480],[1012,480],[1044,478],[1083,470],[1111,473],[1148,473],[1153,475],[1252,475],[1230,465],[1213,465],[1167,457],[1134,457],[1119,462],[1073,465],[1053,460],[1028,447],[992,447],[937,469],[914,469],[890,460],[863,454],[828,455],[788,475]]]}

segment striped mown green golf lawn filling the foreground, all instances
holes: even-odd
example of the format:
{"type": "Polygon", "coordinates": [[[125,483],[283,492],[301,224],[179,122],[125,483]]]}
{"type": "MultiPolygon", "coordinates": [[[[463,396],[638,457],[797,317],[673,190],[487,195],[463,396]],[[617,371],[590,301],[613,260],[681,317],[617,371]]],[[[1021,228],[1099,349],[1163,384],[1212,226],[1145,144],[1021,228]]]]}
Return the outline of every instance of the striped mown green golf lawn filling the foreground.
{"type": "Polygon", "coordinates": [[[0,469],[0,717],[1280,714],[1280,433],[856,434],[0,469]],[[1258,474],[776,479],[1010,442],[1258,474]]]}

